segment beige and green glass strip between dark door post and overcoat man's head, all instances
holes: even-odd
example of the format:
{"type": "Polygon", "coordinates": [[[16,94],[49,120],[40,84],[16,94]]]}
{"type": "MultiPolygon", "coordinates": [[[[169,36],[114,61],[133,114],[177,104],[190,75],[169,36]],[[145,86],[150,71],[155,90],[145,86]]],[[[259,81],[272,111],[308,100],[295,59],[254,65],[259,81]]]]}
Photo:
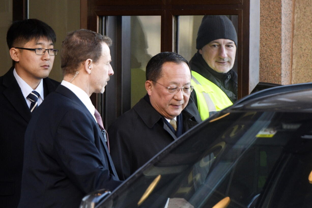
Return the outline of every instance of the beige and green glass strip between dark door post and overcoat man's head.
{"type": "Polygon", "coordinates": [[[145,67],[160,52],[161,16],[131,16],[131,107],[145,94],[145,67]]]}

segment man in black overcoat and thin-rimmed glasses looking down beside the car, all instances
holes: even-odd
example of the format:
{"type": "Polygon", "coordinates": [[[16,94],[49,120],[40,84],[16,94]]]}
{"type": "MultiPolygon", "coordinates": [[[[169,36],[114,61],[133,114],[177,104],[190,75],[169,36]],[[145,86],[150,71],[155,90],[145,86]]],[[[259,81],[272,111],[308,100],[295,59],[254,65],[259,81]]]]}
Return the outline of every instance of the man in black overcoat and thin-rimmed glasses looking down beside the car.
{"type": "MultiPolygon", "coordinates": [[[[193,86],[188,61],[182,56],[161,52],[152,57],[146,66],[145,89],[147,95],[108,128],[121,180],[200,122],[184,110],[193,86]]],[[[194,112],[198,114],[197,109],[194,112]]]]}

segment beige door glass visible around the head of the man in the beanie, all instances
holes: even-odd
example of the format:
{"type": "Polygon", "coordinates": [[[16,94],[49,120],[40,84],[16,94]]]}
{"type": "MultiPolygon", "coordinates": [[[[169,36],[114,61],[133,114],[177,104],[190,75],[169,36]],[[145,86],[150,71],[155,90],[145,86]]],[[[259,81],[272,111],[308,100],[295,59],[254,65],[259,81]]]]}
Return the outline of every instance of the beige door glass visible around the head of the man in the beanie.
{"type": "MultiPolygon", "coordinates": [[[[178,42],[178,46],[175,45],[177,53],[183,56],[186,60],[190,61],[194,54],[197,52],[196,49],[196,38],[197,38],[197,31],[202,22],[203,15],[187,15],[187,16],[179,16],[178,21],[178,32],[176,31],[174,42],[175,44],[178,42]],[[178,50],[177,50],[178,49],[178,50]]],[[[227,15],[229,19],[233,22],[233,25],[236,29],[238,29],[238,16],[237,15],[227,15]]],[[[177,26],[177,25],[176,25],[177,26]]],[[[175,27],[177,28],[177,27],[175,27]]],[[[236,57],[233,66],[233,70],[237,72],[237,51],[236,50],[236,57]]]]}

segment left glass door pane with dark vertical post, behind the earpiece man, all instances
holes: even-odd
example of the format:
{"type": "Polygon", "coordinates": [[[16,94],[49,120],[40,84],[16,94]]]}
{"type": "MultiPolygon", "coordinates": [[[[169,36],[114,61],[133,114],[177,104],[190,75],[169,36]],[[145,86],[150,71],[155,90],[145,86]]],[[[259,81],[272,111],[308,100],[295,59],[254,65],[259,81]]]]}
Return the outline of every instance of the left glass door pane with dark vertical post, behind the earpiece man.
{"type": "Polygon", "coordinates": [[[160,52],[161,16],[101,16],[98,23],[99,32],[113,41],[114,75],[95,99],[107,128],[146,94],[145,67],[160,52]]]}

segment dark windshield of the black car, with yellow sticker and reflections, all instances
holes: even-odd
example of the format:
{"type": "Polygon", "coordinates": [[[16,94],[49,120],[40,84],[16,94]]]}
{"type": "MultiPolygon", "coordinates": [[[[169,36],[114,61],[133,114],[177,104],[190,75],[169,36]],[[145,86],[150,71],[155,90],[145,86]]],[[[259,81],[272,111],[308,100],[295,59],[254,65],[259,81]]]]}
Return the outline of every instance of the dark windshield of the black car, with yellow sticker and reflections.
{"type": "Polygon", "coordinates": [[[222,111],[137,171],[97,207],[311,207],[310,113],[222,111]],[[221,206],[223,207],[223,206],[221,206]],[[224,206],[226,207],[226,206],[224,206]]]}

